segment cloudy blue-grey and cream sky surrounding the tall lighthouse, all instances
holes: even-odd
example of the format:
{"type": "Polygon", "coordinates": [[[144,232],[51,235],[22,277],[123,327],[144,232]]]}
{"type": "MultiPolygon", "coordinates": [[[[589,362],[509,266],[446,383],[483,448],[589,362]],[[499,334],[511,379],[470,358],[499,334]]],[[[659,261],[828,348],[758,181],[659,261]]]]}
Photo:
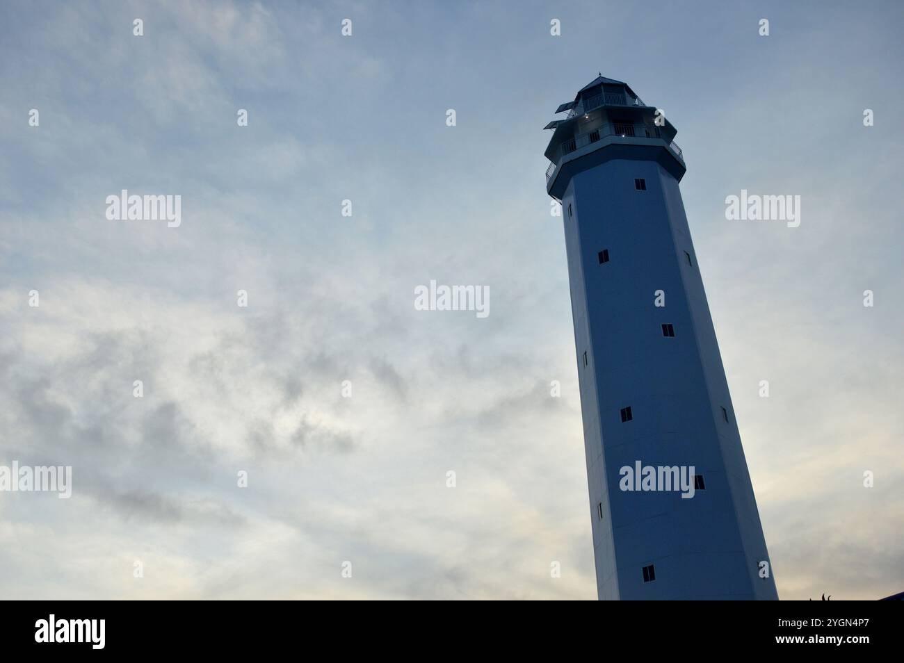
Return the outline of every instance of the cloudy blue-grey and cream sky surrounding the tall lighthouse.
{"type": "Polygon", "coordinates": [[[541,127],[598,72],[678,129],[779,596],[904,591],[902,19],[3,3],[0,465],[72,496],[0,492],[0,597],[596,598],[541,127]],[[108,220],[123,189],[180,225],[108,220]],[[727,220],[743,189],[800,226],[727,220]],[[431,280],[489,315],[417,310],[431,280]]]}

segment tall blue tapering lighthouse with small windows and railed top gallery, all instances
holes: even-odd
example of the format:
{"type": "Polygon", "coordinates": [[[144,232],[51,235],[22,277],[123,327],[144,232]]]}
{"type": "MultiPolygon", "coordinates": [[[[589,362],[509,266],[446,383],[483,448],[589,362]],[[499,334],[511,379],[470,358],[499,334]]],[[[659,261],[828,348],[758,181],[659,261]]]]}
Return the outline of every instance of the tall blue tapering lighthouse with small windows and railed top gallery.
{"type": "Polygon", "coordinates": [[[603,76],[556,113],[598,597],[777,599],[676,129],[603,76]]]}

